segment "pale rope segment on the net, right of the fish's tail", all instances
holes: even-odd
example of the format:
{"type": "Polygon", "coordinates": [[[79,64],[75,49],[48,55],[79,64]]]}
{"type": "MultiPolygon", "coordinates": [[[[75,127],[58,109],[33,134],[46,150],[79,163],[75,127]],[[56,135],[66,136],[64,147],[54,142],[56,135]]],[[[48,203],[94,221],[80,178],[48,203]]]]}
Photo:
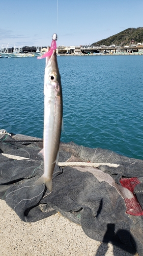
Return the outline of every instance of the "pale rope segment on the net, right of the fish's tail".
{"type": "Polygon", "coordinates": [[[116,163],[84,163],[84,162],[59,162],[59,166],[92,166],[99,167],[100,165],[107,165],[109,167],[118,167],[120,164],[116,163]]]}

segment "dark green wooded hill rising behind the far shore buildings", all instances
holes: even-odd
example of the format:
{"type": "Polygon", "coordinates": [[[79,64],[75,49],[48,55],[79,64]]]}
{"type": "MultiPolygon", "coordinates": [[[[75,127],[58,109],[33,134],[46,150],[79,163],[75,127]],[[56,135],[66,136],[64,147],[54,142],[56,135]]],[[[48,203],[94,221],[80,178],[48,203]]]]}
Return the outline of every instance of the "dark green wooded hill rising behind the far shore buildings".
{"type": "Polygon", "coordinates": [[[138,42],[143,42],[143,28],[128,28],[122,32],[109,36],[106,39],[102,39],[98,42],[94,42],[92,46],[97,45],[116,45],[116,46],[125,46],[125,45],[137,45],[138,42]]]}

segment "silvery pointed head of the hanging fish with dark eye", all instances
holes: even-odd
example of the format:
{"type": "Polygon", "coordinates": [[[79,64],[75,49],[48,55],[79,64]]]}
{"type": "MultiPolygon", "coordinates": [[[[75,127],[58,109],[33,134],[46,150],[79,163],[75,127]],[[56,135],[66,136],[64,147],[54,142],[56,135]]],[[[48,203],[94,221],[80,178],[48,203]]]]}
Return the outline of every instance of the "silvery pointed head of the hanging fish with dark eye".
{"type": "Polygon", "coordinates": [[[46,57],[45,67],[45,84],[44,84],[44,95],[49,96],[49,91],[54,90],[56,96],[62,94],[61,87],[61,76],[58,68],[58,61],[56,58],[56,50],[53,50],[52,55],[46,57]]]}

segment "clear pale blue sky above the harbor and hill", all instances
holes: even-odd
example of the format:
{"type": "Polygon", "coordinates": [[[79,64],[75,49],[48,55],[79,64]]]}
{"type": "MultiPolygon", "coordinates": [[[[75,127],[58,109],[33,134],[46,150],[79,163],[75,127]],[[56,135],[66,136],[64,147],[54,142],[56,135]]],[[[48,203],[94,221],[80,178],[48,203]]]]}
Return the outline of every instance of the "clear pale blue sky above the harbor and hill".
{"type": "Polygon", "coordinates": [[[0,49],[89,45],[143,27],[142,0],[0,0],[0,49]]]}

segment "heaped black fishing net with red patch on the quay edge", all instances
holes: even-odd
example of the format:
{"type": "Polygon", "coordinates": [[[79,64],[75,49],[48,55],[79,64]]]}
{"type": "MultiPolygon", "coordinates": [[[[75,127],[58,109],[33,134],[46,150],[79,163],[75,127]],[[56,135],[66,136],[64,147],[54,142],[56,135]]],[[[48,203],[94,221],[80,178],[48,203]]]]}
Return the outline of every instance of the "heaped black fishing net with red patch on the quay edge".
{"type": "Polygon", "coordinates": [[[50,193],[44,184],[35,185],[44,172],[42,147],[42,139],[1,132],[0,198],[22,221],[59,211],[90,238],[143,255],[143,161],[61,142],[59,162],[99,164],[55,165],[50,193]]]}

